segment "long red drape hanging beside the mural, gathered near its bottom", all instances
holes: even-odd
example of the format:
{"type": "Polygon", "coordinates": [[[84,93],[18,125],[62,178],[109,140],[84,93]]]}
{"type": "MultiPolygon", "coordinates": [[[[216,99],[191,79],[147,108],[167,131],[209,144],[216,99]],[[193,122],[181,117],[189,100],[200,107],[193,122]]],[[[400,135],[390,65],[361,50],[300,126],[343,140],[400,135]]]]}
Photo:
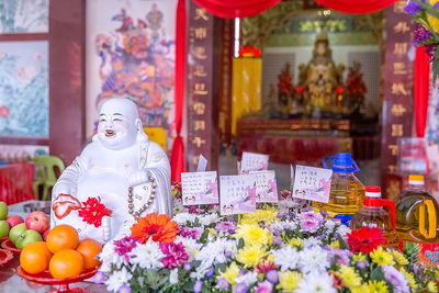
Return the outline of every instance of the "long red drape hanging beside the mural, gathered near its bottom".
{"type": "Polygon", "coordinates": [[[184,101],[184,67],[185,67],[185,0],[179,0],[176,16],[176,132],[171,154],[171,180],[181,181],[181,172],[184,172],[184,145],[181,137],[181,125],[184,101]]]}

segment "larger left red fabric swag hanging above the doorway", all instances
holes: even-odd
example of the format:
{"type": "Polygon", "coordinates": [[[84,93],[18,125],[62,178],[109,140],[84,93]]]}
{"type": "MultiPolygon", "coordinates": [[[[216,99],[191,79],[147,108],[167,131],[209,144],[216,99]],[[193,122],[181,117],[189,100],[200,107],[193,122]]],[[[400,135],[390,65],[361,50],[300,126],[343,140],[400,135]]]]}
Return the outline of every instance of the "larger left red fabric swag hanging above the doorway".
{"type": "Polygon", "coordinates": [[[199,7],[223,19],[248,18],[272,8],[280,0],[193,0],[199,7]]]}

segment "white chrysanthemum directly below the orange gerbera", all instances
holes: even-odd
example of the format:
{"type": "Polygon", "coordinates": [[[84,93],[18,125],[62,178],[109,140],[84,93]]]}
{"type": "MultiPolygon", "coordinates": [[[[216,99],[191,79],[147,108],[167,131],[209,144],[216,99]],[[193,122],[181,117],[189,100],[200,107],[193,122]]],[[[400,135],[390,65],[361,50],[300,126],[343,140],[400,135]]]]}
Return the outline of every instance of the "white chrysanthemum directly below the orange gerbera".
{"type": "Polygon", "coordinates": [[[130,258],[134,266],[139,266],[142,269],[160,269],[164,267],[161,259],[165,257],[161,252],[158,243],[150,238],[146,244],[137,244],[130,252],[130,258]]]}

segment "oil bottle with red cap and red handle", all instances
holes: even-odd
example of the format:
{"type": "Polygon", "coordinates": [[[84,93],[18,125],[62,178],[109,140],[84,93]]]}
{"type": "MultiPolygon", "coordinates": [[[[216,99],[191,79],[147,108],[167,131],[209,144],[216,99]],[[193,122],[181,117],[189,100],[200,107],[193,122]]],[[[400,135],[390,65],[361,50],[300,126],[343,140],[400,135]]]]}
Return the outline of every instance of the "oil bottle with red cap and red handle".
{"type": "Polygon", "coordinates": [[[365,187],[363,206],[353,215],[350,227],[375,227],[384,233],[387,239],[386,246],[396,247],[395,238],[395,204],[389,200],[381,199],[381,188],[365,187]],[[383,209],[389,207],[389,212],[383,209]]]}

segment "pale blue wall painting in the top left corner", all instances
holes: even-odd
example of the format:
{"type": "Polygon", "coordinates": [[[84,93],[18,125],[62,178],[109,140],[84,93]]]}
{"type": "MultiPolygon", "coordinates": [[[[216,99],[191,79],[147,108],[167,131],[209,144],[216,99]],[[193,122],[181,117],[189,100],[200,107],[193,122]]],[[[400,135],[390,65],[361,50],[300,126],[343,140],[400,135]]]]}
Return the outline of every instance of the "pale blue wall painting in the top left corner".
{"type": "Polygon", "coordinates": [[[47,33],[48,0],[0,0],[0,33],[47,33]]]}

